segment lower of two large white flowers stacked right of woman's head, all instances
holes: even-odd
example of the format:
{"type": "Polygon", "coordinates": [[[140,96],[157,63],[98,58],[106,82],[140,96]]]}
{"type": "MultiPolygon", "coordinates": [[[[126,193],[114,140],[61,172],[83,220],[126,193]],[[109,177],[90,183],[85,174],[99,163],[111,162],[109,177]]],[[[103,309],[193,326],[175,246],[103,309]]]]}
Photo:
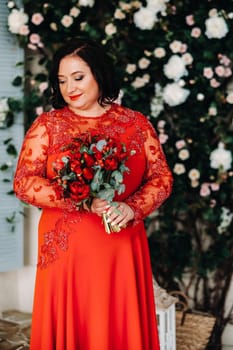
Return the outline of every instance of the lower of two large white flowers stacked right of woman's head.
{"type": "Polygon", "coordinates": [[[178,106],[186,101],[190,94],[188,89],[179,86],[178,83],[167,84],[163,90],[163,100],[169,106],[178,106]]]}

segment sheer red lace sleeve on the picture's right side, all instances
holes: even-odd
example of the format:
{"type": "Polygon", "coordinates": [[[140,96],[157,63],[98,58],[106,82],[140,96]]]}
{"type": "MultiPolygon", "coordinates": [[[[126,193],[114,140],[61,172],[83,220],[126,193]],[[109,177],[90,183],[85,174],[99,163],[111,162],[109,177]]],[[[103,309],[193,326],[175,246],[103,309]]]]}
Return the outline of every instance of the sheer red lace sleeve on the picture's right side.
{"type": "Polygon", "coordinates": [[[145,131],[147,168],[141,187],[127,198],[135,212],[134,222],[145,219],[167,199],[172,190],[173,177],[155,130],[148,123],[145,131]]]}

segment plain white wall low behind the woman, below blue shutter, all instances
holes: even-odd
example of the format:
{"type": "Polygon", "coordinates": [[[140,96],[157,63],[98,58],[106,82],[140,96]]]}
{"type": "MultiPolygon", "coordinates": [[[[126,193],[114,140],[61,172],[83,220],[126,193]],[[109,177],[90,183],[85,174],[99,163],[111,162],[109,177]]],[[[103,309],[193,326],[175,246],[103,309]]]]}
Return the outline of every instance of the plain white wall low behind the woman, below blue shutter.
{"type": "MultiPolygon", "coordinates": [[[[32,311],[37,263],[37,225],[40,211],[30,207],[25,210],[25,214],[25,267],[17,271],[0,273],[0,313],[9,309],[32,311]]],[[[232,303],[233,281],[227,298],[227,308],[232,303]]],[[[223,344],[233,346],[233,325],[226,327],[223,344]]]]}

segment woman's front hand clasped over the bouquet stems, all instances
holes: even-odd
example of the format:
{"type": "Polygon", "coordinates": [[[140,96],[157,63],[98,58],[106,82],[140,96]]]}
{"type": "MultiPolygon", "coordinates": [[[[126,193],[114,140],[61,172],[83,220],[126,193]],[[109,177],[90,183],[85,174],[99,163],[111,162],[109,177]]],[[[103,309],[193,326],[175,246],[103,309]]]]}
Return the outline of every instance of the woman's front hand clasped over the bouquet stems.
{"type": "Polygon", "coordinates": [[[107,210],[108,223],[123,227],[134,218],[133,209],[124,202],[117,202],[117,206],[113,205],[107,210]]]}

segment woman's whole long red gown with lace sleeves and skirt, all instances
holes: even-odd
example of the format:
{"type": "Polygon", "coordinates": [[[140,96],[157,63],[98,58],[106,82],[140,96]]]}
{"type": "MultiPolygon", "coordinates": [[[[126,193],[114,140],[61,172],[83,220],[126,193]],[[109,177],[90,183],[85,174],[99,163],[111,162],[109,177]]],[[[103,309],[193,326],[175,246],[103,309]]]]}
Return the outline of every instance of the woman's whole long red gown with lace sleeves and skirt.
{"type": "Polygon", "coordinates": [[[98,117],[67,107],[43,113],[27,132],[15,173],[18,198],[42,208],[38,228],[31,350],[158,350],[152,271],[143,219],[172,186],[147,118],[117,104],[98,117]],[[95,129],[136,154],[127,161],[127,202],[135,219],[107,234],[101,218],[57,199],[52,163],[81,132],[95,129]]]}

